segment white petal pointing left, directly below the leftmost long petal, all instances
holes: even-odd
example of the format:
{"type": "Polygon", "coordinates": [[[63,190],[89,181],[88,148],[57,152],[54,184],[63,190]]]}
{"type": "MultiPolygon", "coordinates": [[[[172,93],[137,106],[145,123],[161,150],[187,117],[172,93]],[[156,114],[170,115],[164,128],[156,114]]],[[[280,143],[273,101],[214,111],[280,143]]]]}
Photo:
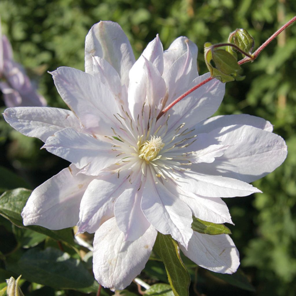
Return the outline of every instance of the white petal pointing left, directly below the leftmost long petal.
{"type": "Polygon", "coordinates": [[[116,163],[115,152],[111,144],[72,128],[58,131],[49,137],[43,145],[47,151],[62,157],[76,167],[84,169],[87,175],[97,176],[100,170],[116,163]]]}

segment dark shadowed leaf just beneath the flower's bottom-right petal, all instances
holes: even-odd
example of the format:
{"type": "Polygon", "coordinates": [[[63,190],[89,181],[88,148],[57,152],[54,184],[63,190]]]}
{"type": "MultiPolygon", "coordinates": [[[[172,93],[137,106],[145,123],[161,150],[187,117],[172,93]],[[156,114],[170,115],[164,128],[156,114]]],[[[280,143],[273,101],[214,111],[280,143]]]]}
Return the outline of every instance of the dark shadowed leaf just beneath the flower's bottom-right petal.
{"type": "Polygon", "coordinates": [[[256,292],[255,288],[250,284],[250,281],[241,269],[238,269],[237,272],[235,272],[234,274],[219,274],[213,271],[208,272],[235,287],[239,287],[250,292],[256,292]]]}

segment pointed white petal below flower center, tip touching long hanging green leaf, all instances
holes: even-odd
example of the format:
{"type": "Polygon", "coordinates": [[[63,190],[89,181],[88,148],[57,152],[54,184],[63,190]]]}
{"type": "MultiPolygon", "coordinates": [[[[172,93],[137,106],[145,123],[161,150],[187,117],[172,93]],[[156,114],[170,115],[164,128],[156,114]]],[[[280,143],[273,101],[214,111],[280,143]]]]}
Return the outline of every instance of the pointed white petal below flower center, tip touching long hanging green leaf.
{"type": "Polygon", "coordinates": [[[174,196],[163,184],[153,181],[147,170],[141,208],[147,220],[162,234],[170,234],[184,247],[192,236],[192,213],[189,207],[174,196]]]}

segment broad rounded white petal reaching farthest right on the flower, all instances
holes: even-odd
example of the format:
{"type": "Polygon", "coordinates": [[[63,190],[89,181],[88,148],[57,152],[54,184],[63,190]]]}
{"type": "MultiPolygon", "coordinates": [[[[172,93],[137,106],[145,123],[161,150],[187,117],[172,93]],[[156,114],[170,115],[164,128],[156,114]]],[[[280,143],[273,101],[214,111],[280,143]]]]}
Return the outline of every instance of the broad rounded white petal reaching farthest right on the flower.
{"type": "Polygon", "coordinates": [[[287,156],[287,146],[280,136],[252,126],[224,127],[210,135],[229,147],[211,166],[196,166],[198,171],[253,182],[275,170],[287,156]]]}

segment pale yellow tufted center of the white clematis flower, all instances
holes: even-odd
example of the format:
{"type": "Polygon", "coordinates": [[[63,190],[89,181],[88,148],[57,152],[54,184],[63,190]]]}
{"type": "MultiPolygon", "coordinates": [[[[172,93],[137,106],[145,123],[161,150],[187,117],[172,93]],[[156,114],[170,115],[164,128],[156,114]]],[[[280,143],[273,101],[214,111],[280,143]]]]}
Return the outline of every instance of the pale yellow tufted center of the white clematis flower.
{"type": "Polygon", "coordinates": [[[165,146],[161,137],[151,136],[151,139],[141,143],[141,140],[138,141],[139,147],[139,157],[143,160],[146,160],[146,163],[149,163],[152,160],[160,158],[158,153],[165,146]]]}

